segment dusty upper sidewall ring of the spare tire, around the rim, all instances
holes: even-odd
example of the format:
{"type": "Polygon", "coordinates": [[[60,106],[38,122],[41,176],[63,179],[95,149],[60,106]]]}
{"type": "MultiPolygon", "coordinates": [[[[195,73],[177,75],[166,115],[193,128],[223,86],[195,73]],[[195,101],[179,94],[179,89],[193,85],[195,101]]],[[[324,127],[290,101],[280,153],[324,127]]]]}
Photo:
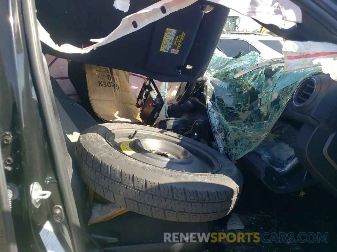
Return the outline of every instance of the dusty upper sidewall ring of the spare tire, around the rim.
{"type": "MultiPolygon", "coordinates": [[[[170,131],[165,131],[161,129],[156,129],[152,127],[126,124],[126,123],[106,123],[100,124],[88,128],[80,135],[78,144],[81,144],[83,148],[94,154],[98,159],[103,160],[105,163],[113,164],[118,166],[120,169],[133,173],[137,176],[143,176],[145,178],[152,178],[155,181],[160,183],[179,183],[186,181],[196,181],[204,183],[212,183],[225,185],[229,187],[237,187],[242,185],[242,175],[238,168],[233,164],[232,161],[227,159],[224,155],[218,153],[217,151],[209,148],[205,144],[194,141],[190,138],[184,137],[182,135],[175,134],[170,131]],[[133,159],[130,156],[127,156],[118,150],[114,149],[108,142],[105,140],[105,134],[108,131],[113,131],[114,129],[134,129],[134,130],[146,130],[159,132],[171,137],[176,137],[182,141],[187,141],[191,144],[197,145],[198,148],[207,150],[213,156],[215,156],[220,164],[221,168],[216,173],[184,173],[170,169],[163,169],[153,165],[149,165],[138,160],[133,159]],[[241,183],[240,183],[241,182],[241,183]]],[[[203,184],[205,188],[206,184],[203,184]]]]}

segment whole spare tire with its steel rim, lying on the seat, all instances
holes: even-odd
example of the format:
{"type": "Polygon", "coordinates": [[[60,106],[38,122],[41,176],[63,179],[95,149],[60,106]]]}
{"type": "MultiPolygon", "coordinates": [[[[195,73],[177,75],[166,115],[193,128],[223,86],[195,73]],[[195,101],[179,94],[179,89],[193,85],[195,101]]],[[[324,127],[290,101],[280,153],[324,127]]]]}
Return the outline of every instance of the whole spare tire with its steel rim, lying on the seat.
{"type": "Polygon", "coordinates": [[[227,215],[243,178],[224,155],[162,129],[106,123],[86,129],[75,160],[105,199],[154,218],[204,222],[227,215]]]}

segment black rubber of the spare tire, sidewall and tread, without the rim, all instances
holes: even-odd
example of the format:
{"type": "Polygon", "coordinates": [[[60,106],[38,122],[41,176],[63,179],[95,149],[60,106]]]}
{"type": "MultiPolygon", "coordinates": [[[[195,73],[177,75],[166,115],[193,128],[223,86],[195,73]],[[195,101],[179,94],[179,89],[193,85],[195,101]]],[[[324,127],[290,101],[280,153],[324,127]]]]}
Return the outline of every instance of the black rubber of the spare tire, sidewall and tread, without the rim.
{"type": "Polygon", "coordinates": [[[77,142],[75,160],[84,182],[97,194],[131,211],[174,221],[210,221],[227,215],[243,183],[237,167],[207,145],[135,124],[106,123],[86,129],[77,142]],[[105,140],[107,132],[121,128],[159,132],[187,141],[216,157],[221,168],[216,173],[185,173],[135,160],[105,140]]]}

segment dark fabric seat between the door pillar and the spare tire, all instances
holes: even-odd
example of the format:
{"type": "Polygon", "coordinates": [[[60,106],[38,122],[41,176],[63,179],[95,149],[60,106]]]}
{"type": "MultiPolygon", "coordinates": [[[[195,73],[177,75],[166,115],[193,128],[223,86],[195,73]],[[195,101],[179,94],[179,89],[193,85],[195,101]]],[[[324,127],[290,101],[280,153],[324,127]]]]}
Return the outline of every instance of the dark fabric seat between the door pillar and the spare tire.
{"type": "Polygon", "coordinates": [[[80,219],[83,220],[84,226],[86,226],[90,218],[92,202],[89,197],[89,190],[82,181],[78,168],[73,160],[76,142],[80,133],[97,123],[82,106],[63,92],[60,85],[53,77],[50,77],[50,80],[56,98],[56,107],[59,112],[67,151],[72,160],[72,171],[70,172],[72,173],[71,187],[75,198],[76,208],[78,209],[80,219]]]}

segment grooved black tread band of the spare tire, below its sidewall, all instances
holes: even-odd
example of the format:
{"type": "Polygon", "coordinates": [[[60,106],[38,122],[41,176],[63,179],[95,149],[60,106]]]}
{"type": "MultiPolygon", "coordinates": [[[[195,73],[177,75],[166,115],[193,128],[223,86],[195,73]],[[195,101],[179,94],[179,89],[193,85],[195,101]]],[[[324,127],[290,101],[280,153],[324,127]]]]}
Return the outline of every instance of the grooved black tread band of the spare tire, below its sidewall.
{"type": "Polygon", "coordinates": [[[98,195],[154,218],[183,222],[216,220],[227,215],[238,199],[239,188],[233,188],[230,194],[226,190],[197,191],[137,177],[100,160],[85,149],[81,140],[75,157],[84,182],[98,195]],[[142,188],[138,186],[140,182],[142,188]]]}

